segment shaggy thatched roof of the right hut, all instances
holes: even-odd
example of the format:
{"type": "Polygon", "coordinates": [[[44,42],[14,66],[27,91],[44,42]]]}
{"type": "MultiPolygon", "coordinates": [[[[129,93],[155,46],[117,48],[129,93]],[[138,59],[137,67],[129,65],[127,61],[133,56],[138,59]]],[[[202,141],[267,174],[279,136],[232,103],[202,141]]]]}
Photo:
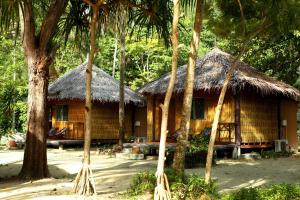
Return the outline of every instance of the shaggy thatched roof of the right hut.
{"type": "MultiPolygon", "coordinates": [[[[225,80],[225,73],[228,71],[233,59],[233,56],[218,48],[214,48],[202,59],[198,59],[195,69],[194,89],[204,91],[220,90],[225,80]]],[[[175,93],[180,93],[184,90],[186,67],[184,65],[178,68],[174,87],[175,93]]],[[[164,94],[169,80],[170,73],[167,73],[161,78],[144,85],[138,91],[142,94],[164,94]]],[[[248,64],[239,61],[229,83],[229,88],[242,90],[246,86],[262,95],[283,95],[297,101],[300,100],[300,93],[296,88],[275,80],[248,64]]]]}

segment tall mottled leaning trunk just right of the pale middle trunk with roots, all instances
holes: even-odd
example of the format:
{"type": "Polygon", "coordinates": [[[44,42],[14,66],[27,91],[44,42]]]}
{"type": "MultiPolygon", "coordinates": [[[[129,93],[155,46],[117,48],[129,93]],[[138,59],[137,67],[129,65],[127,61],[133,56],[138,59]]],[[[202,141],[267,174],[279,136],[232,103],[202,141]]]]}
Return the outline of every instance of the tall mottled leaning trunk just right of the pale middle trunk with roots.
{"type": "Polygon", "coordinates": [[[175,148],[175,154],[173,159],[173,168],[180,174],[184,174],[184,159],[185,151],[188,143],[188,134],[190,129],[191,107],[193,99],[194,88],[194,74],[197,60],[197,54],[199,49],[199,39],[202,25],[202,12],[203,12],[203,0],[197,0],[196,14],[194,22],[193,36],[190,45],[189,60],[186,69],[183,106],[181,113],[181,123],[179,129],[179,136],[177,138],[177,144],[175,148]]]}

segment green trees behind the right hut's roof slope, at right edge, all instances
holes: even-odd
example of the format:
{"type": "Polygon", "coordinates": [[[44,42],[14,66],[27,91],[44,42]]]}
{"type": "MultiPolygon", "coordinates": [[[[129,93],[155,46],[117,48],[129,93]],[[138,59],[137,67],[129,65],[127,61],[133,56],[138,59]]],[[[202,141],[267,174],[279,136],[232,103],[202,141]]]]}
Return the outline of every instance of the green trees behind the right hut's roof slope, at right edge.
{"type": "MultiPolygon", "coordinates": [[[[239,51],[240,42],[236,39],[219,39],[217,43],[232,55],[237,55],[239,51]]],[[[300,89],[300,35],[297,32],[254,38],[243,60],[268,76],[300,89]]]]}

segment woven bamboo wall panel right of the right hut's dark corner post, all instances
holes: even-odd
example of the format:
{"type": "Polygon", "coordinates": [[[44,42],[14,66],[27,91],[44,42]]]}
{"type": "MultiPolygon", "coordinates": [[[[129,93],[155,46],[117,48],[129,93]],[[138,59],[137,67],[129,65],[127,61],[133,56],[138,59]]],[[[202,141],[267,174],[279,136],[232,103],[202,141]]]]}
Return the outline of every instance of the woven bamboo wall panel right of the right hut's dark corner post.
{"type": "Polygon", "coordinates": [[[243,143],[271,142],[278,137],[277,102],[262,97],[241,97],[243,143]]]}

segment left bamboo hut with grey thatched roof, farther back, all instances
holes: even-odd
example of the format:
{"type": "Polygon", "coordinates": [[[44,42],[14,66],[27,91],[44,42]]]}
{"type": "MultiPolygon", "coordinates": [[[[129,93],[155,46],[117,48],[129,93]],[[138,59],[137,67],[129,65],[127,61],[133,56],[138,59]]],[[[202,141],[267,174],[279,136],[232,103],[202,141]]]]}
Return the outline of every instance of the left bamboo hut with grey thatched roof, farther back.
{"type": "MultiPolygon", "coordinates": [[[[57,130],[67,129],[63,137],[66,140],[84,137],[86,64],[79,65],[49,86],[50,126],[57,130]]],[[[93,66],[92,102],[92,139],[118,139],[119,81],[96,66],[93,66]]],[[[142,103],[139,95],[125,87],[125,137],[138,136],[146,129],[146,110],[139,107],[142,103]]]]}

